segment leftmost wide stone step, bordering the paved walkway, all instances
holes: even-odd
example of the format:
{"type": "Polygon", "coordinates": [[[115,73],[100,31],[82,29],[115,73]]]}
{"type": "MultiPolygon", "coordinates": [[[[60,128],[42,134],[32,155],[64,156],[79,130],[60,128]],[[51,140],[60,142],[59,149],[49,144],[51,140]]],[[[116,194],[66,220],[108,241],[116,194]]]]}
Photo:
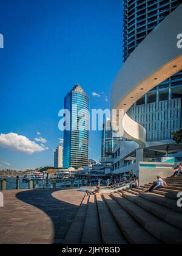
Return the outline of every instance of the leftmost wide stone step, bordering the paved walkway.
{"type": "Polygon", "coordinates": [[[62,244],[80,244],[86,220],[88,197],[84,197],[62,244]]]}

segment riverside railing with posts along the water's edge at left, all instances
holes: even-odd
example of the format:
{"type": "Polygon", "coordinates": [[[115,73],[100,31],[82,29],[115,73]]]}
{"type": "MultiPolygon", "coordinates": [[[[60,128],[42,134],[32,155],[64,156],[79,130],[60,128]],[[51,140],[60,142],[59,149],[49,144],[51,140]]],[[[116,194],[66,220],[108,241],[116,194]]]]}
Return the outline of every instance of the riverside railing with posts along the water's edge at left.
{"type": "Polygon", "coordinates": [[[87,184],[87,180],[75,179],[24,179],[14,177],[1,177],[0,190],[46,189],[46,188],[75,188],[87,184]]]}

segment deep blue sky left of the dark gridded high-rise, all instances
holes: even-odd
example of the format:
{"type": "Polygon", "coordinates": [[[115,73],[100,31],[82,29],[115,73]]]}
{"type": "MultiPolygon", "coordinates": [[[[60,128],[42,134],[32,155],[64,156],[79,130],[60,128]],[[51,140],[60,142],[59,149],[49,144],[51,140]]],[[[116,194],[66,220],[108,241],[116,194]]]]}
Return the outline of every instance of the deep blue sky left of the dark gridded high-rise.
{"type": "MultiPolygon", "coordinates": [[[[58,112],[73,85],[82,85],[90,109],[110,107],[123,61],[122,8],[121,0],[1,0],[0,169],[53,165],[63,138],[58,112]],[[39,146],[30,154],[16,147],[19,139],[39,146]]],[[[90,132],[89,147],[89,157],[99,160],[101,132],[90,132]]]]}

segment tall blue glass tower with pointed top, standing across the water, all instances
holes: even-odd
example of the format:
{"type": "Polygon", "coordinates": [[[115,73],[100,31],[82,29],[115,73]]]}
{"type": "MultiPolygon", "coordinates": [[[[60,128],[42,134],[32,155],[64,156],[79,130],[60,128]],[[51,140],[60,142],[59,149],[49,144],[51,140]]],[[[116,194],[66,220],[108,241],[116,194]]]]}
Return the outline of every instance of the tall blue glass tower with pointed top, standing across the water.
{"type": "Polygon", "coordinates": [[[70,112],[70,130],[64,130],[64,168],[88,166],[89,98],[80,85],[75,85],[66,95],[64,108],[70,112]],[[81,123],[85,129],[80,129],[81,123]]]}

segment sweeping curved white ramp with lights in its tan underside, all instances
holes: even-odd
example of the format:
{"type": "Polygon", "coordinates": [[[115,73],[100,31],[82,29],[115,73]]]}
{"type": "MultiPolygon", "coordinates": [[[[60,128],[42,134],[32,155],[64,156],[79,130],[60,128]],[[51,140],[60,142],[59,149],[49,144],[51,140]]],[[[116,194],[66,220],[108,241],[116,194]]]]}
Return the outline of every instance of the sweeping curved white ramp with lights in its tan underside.
{"type": "MultiPolygon", "coordinates": [[[[162,21],[132,52],[123,64],[112,87],[111,108],[122,119],[112,116],[112,124],[122,123],[124,137],[146,146],[146,130],[126,113],[138,99],[164,80],[182,70],[182,49],[177,36],[182,33],[182,4],[162,21]]],[[[116,130],[120,132],[120,129],[116,130]]]]}

